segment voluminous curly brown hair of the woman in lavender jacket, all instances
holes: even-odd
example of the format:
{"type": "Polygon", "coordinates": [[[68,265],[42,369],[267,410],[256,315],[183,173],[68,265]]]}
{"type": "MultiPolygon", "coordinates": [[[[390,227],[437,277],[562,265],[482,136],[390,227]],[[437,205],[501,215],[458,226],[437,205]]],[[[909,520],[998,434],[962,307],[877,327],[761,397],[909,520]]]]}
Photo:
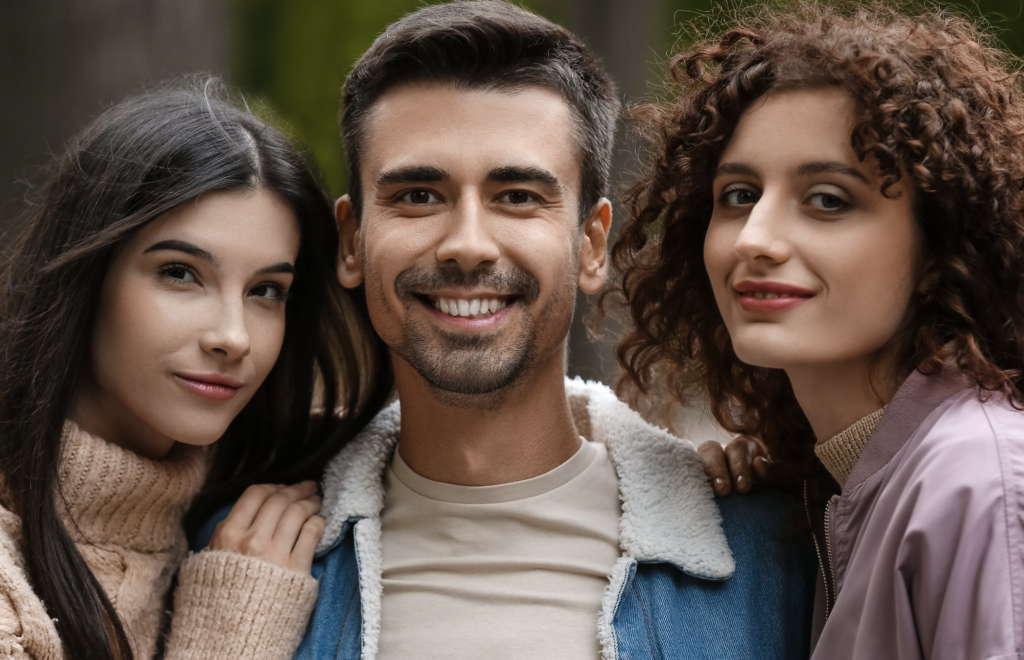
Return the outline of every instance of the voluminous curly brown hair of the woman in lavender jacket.
{"type": "MultiPolygon", "coordinates": [[[[699,392],[715,419],[755,435],[794,477],[820,475],[814,435],[785,373],[741,362],[703,263],[712,180],[740,117],[766,94],[838,87],[855,99],[851,143],[881,169],[882,192],[915,192],[923,261],[891,347],[900,372],[951,360],[983,391],[1019,402],[1024,373],[1024,104],[1019,62],[972,21],[892,5],[798,4],[732,21],[670,72],[681,88],[636,108],[654,162],[627,194],[612,250],[632,329],[618,345],[634,401],[699,392]]],[[[792,483],[792,482],[791,482],[792,483]]]]}

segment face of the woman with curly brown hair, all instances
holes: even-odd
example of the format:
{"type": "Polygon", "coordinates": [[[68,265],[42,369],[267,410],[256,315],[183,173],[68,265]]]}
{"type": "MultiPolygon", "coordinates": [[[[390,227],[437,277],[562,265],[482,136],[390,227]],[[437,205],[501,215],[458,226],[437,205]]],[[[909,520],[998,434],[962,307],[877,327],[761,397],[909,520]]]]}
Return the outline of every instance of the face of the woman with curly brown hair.
{"type": "MultiPolygon", "coordinates": [[[[715,173],[705,264],[736,355],[787,371],[870,358],[919,272],[910,187],[881,192],[833,89],[769,95],[740,119],[715,173]]],[[[791,373],[792,375],[792,373],[791,373]]]]}

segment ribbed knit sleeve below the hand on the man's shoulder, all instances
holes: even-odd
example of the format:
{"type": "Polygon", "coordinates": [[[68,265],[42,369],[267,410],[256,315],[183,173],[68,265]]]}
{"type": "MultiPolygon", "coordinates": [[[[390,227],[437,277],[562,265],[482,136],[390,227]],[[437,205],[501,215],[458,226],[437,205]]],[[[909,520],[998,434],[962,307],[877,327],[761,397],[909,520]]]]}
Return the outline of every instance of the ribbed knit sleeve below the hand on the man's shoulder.
{"type": "Polygon", "coordinates": [[[316,603],[310,575],[237,553],[185,560],[167,660],[291,658],[316,603]]]}

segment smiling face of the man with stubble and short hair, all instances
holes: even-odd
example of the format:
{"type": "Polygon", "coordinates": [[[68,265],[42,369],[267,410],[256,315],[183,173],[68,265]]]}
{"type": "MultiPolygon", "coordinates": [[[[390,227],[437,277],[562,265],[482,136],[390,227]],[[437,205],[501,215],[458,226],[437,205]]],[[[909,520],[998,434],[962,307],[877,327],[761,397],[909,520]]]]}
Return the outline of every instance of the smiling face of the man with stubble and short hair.
{"type": "MultiPolygon", "coordinates": [[[[588,263],[593,241],[579,224],[572,130],[568,105],[542,88],[406,85],[378,100],[362,217],[354,230],[348,220],[341,271],[348,285],[355,271],[366,281],[396,368],[404,361],[435,392],[475,398],[561,363],[578,281],[594,289],[581,273],[581,238],[588,263]]],[[[594,217],[603,240],[610,216],[594,217]]],[[[603,252],[601,263],[603,282],[603,252]]]]}

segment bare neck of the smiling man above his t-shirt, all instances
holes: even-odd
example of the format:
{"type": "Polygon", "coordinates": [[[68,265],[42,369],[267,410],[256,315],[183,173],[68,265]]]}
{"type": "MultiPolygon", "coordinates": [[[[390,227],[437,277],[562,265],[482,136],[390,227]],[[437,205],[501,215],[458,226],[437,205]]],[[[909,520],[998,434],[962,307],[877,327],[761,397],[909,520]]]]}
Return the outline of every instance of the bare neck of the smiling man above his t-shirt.
{"type": "Polygon", "coordinates": [[[554,470],[580,448],[561,360],[538,364],[507,391],[482,395],[478,406],[435,393],[400,357],[394,365],[398,451],[422,477],[462,486],[512,483],[554,470]]]}

